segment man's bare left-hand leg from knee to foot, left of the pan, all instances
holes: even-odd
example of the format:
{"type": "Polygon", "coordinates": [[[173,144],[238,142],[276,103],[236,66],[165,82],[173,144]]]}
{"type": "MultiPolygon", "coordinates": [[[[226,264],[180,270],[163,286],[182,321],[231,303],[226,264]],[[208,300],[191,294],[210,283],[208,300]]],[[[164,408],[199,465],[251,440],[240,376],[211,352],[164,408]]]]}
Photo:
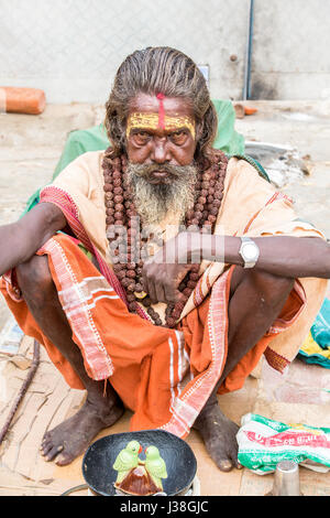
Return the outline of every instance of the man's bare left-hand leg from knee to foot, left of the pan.
{"type": "Polygon", "coordinates": [[[122,416],[123,406],[110,384],[105,395],[105,381],[95,381],[87,375],[81,353],[72,339],[72,328],[59,303],[47,257],[34,256],[16,268],[16,276],[34,320],[69,361],[87,390],[82,408],[46,432],[42,443],[46,461],[57,456],[58,465],[69,464],[86,450],[100,430],[110,427],[122,416]]]}

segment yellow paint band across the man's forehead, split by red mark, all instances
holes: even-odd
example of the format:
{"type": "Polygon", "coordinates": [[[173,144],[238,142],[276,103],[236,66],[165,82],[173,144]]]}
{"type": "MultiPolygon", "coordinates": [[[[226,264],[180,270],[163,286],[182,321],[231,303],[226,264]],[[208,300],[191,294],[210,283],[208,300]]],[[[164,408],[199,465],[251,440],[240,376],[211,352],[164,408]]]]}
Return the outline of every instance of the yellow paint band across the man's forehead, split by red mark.
{"type": "MultiPolygon", "coordinates": [[[[156,130],[160,128],[160,116],[158,114],[132,114],[128,120],[127,127],[127,137],[132,129],[152,129],[156,130]]],[[[187,128],[193,138],[195,139],[195,121],[191,120],[189,117],[167,117],[165,116],[164,120],[164,129],[169,130],[177,130],[179,128],[187,128]]]]}

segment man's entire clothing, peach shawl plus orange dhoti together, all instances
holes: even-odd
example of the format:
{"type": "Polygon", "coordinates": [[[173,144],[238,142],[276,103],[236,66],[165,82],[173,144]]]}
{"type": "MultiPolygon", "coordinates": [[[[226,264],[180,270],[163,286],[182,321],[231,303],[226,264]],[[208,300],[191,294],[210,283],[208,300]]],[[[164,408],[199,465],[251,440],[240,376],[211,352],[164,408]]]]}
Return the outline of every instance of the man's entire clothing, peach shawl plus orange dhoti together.
{"type": "MultiPolygon", "coordinates": [[[[143,307],[139,314],[129,313],[107,256],[101,157],[101,152],[86,153],[41,193],[42,203],[61,207],[77,239],[96,256],[100,272],[75,240],[63,234],[37,253],[48,258],[86,371],[92,379],[111,382],[134,412],[131,429],[162,428],[184,438],[226,364],[234,267],[204,261],[200,280],[175,330],[155,326],[143,307]]],[[[252,237],[320,236],[297,218],[285,196],[260,179],[250,164],[235,159],[229,162],[216,231],[252,237]]],[[[18,324],[45,346],[70,387],[84,389],[70,364],[38,328],[13,279],[8,272],[0,289],[18,324]]],[[[280,315],[227,377],[220,393],[241,388],[263,354],[272,367],[283,371],[308,335],[326,289],[322,279],[296,280],[280,315]]]]}

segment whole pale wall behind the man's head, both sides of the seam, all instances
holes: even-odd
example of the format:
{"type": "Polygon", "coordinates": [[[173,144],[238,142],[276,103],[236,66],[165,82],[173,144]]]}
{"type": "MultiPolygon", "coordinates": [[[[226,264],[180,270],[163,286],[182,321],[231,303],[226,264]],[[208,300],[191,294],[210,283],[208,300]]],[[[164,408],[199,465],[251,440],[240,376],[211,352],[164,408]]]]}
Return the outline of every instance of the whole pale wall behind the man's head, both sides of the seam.
{"type": "MultiPolygon", "coordinates": [[[[215,98],[242,98],[250,0],[0,0],[0,86],[48,102],[105,102],[135,48],[169,45],[209,65],[215,98]]],[[[329,96],[330,2],[255,0],[254,98],[329,96]]]]}

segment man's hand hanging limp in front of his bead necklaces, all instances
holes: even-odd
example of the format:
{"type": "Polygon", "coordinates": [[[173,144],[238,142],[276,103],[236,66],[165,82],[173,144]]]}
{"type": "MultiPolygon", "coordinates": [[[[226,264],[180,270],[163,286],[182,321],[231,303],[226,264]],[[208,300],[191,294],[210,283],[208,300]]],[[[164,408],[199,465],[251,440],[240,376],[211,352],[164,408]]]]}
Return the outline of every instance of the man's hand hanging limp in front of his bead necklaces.
{"type": "Polygon", "coordinates": [[[175,303],[182,298],[178,285],[196,261],[200,250],[200,235],[180,233],[143,266],[143,288],[153,304],[175,303]]]}

